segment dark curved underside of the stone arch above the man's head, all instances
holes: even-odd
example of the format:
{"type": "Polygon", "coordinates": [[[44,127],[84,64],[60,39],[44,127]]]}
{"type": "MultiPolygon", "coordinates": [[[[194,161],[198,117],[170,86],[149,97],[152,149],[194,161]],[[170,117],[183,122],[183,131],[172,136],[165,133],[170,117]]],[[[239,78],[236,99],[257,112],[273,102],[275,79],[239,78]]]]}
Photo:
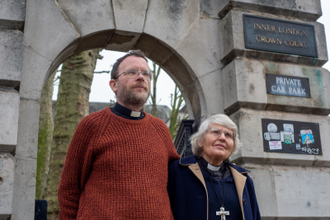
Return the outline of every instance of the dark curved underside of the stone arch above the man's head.
{"type": "MultiPolygon", "coordinates": [[[[166,45],[154,36],[141,33],[134,45],[129,47],[125,44],[130,43],[136,38],[136,33],[116,30],[103,30],[91,33],[70,43],[55,58],[52,65],[45,75],[44,81],[49,75],[70,56],[93,48],[104,48],[107,50],[120,50],[127,52],[130,49],[142,50],[149,59],[160,65],[170,75],[173,81],[178,85],[180,91],[188,105],[189,114],[192,118],[201,117],[200,98],[195,88],[194,72],[188,63],[173,48],[166,45]],[[72,51],[72,48],[76,48],[72,51]]],[[[196,77],[196,76],[195,76],[196,77]]],[[[161,82],[160,82],[161,83],[161,82]]],[[[198,81],[197,81],[198,83],[198,81]]]]}

